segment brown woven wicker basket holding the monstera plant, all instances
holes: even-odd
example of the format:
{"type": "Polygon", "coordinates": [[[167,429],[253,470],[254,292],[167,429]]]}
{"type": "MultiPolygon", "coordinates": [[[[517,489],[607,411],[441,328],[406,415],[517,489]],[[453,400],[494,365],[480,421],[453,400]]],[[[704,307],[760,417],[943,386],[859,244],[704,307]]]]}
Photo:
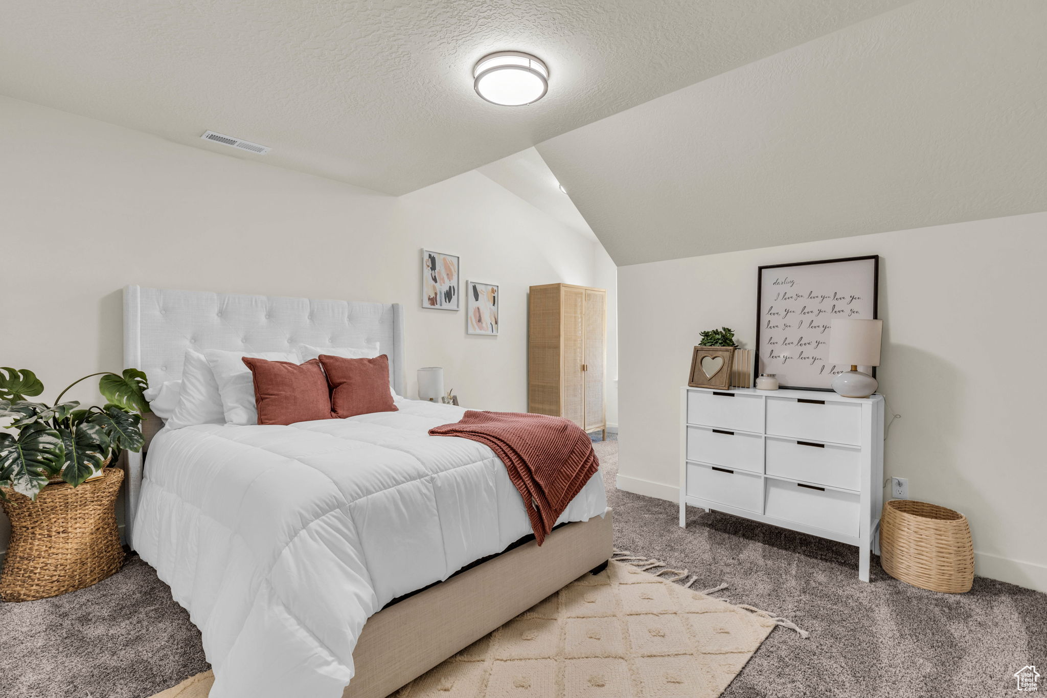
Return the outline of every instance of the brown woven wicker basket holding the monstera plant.
{"type": "MultiPolygon", "coordinates": [[[[77,488],[48,485],[37,500],[4,488],[10,542],[0,573],[0,599],[36,601],[82,589],[106,579],[124,562],[116,530],[116,493],[124,471],[77,488]]],[[[2,500],[0,500],[2,501],[2,500]]]]}

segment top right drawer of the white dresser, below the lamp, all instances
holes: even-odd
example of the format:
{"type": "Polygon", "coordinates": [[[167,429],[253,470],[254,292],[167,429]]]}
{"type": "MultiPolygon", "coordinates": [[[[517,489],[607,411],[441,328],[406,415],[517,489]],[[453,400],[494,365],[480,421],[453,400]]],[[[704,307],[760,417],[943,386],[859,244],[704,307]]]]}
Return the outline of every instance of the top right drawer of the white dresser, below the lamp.
{"type": "Polygon", "coordinates": [[[767,398],[767,433],[861,446],[862,406],[811,398],[767,398]]]}

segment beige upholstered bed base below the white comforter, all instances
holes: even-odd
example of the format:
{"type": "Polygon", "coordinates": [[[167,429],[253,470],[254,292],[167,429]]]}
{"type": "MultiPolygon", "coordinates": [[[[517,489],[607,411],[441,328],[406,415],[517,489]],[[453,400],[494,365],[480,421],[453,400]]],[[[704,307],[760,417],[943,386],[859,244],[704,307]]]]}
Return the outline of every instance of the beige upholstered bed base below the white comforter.
{"type": "Polygon", "coordinates": [[[611,511],[569,523],[372,615],[343,698],[385,698],[611,554],[611,511]]]}

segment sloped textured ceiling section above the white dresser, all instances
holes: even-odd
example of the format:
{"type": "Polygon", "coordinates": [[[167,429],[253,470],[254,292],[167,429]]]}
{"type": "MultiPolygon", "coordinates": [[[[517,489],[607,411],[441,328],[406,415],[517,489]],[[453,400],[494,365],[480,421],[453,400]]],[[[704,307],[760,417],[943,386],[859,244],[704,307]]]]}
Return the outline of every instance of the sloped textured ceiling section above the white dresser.
{"type": "Polygon", "coordinates": [[[620,266],[1047,210],[1045,29],[921,0],[537,150],[620,266]]]}

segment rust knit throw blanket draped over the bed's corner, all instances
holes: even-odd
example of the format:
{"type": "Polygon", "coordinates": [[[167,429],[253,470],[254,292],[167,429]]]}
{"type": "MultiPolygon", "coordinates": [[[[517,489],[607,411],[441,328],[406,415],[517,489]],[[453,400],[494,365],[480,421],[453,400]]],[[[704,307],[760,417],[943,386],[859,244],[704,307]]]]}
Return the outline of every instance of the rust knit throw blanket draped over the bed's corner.
{"type": "Polygon", "coordinates": [[[480,442],[502,458],[524,497],[538,545],[600,468],[588,434],[561,416],[470,409],[461,422],[429,433],[480,442]]]}

